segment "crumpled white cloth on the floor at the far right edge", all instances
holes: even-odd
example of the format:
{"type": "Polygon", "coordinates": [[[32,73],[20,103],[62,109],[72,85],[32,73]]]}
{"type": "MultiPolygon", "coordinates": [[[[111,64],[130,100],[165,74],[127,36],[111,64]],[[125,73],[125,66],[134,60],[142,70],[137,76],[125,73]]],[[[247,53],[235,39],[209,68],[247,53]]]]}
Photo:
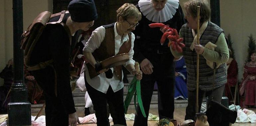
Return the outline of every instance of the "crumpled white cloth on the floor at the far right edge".
{"type": "Polygon", "coordinates": [[[236,118],[237,123],[256,123],[256,114],[252,110],[248,109],[238,109],[237,110],[237,118],[236,118]]]}

